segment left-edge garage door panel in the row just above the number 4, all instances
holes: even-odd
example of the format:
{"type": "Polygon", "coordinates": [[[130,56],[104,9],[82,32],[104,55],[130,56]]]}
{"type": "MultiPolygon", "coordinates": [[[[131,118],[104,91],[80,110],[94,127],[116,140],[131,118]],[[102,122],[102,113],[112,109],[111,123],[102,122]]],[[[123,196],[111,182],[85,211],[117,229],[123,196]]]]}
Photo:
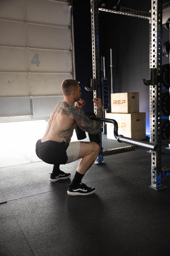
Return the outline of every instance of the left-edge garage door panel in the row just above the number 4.
{"type": "Polygon", "coordinates": [[[0,45],[25,46],[23,22],[0,20],[0,45]]]}

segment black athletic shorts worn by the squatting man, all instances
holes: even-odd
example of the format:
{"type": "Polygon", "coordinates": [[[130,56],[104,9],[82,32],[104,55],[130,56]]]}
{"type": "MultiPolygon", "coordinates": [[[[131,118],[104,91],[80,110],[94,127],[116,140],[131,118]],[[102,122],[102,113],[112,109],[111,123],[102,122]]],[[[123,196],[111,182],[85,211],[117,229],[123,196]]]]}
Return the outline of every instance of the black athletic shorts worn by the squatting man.
{"type": "Polygon", "coordinates": [[[47,164],[65,164],[67,162],[66,150],[69,143],[56,142],[53,140],[41,142],[38,140],[36,143],[36,154],[47,164]]]}

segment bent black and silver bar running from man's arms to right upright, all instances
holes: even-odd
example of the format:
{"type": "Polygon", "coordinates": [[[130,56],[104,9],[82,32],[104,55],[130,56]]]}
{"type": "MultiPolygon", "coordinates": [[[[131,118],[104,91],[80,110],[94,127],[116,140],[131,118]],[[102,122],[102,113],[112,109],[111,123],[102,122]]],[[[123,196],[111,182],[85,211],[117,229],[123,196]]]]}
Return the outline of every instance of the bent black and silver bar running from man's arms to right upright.
{"type": "Polygon", "coordinates": [[[118,135],[118,124],[116,120],[114,119],[109,119],[109,118],[101,118],[101,117],[96,117],[95,115],[90,115],[90,119],[95,120],[95,121],[100,121],[100,122],[106,122],[106,123],[112,123],[114,125],[114,137],[118,142],[125,142],[134,146],[139,146],[142,148],[147,148],[149,150],[157,151],[159,146],[157,144],[153,144],[147,141],[142,141],[142,140],[135,140],[129,137],[124,137],[123,135],[118,135]]]}

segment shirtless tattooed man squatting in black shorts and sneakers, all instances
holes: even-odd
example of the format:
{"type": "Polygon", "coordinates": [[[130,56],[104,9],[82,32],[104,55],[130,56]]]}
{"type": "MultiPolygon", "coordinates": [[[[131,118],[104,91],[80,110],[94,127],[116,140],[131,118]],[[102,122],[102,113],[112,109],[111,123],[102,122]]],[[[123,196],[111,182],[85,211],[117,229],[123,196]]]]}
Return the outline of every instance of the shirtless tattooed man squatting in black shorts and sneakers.
{"type": "MultiPolygon", "coordinates": [[[[94,164],[100,147],[96,142],[70,141],[77,125],[90,134],[97,134],[100,130],[100,122],[93,121],[84,114],[82,108],[85,101],[80,98],[81,88],[78,81],[64,80],[62,91],[64,100],[56,105],[51,114],[43,138],[36,143],[36,153],[44,162],[54,165],[53,172],[50,174],[52,182],[70,178],[70,173],[60,170],[60,164],[71,163],[81,158],[67,194],[70,196],[90,195],[96,189],[86,186],[81,180],[94,164]],[[75,102],[77,106],[74,106],[75,102]]],[[[97,117],[101,117],[101,99],[93,101],[98,108],[97,117]]]]}

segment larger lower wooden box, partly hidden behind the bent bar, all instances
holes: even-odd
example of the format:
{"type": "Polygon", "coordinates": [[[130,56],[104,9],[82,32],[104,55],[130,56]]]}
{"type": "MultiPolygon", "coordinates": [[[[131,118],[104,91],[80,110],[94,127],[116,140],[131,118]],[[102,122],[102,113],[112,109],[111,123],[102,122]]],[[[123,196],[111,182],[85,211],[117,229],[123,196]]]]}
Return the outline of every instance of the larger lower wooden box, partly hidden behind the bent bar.
{"type": "MultiPolygon", "coordinates": [[[[143,140],[146,138],[146,113],[107,113],[106,118],[114,119],[118,123],[118,135],[132,139],[143,140]]],[[[112,123],[107,124],[107,139],[114,139],[112,123]]]]}

